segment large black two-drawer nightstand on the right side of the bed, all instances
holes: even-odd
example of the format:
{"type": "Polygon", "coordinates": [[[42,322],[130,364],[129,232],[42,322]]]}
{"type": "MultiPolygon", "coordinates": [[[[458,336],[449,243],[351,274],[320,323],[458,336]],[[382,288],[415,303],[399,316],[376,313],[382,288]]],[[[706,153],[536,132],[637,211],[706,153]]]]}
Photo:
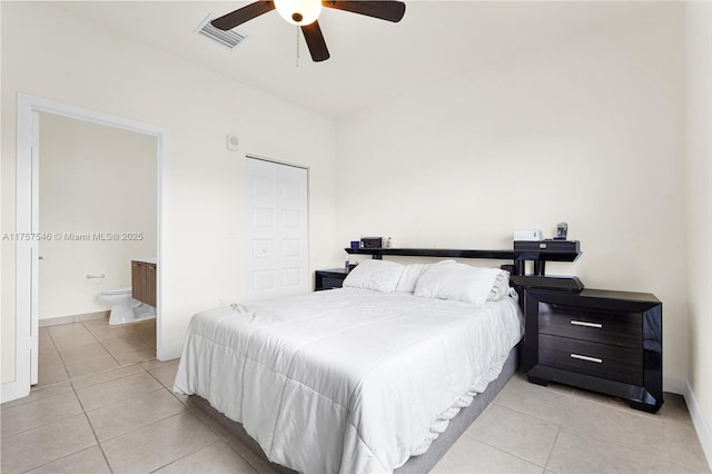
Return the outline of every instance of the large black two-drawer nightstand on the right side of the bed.
{"type": "Polygon", "coordinates": [[[662,303],[644,293],[524,292],[524,369],[530,382],[572,385],[657,412],[662,303]]]}

